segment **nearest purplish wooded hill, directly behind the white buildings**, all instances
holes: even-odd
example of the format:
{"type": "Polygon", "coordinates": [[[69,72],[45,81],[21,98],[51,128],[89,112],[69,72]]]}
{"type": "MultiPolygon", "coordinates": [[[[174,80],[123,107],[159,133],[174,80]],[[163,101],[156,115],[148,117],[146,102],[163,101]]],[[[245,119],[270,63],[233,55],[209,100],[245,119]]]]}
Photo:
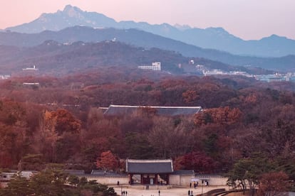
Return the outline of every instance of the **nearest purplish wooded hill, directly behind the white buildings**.
{"type": "MultiPolygon", "coordinates": [[[[145,48],[110,40],[100,43],[76,42],[71,44],[47,40],[41,45],[29,48],[0,45],[0,72],[16,74],[20,74],[23,68],[33,65],[37,66],[41,75],[65,75],[93,67],[138,69],[138,65],[151,65],[155,61],[160,61],[162,70],[166,72],[183,73],[178,65],[188,64],[190,59],[180,55],[180,53],[168,50],[158,48],[146,50],[145,48]]],[[[195,63],[205,65],[209,69],[251,72],[244,67],[233,67],[204,58],[192,59],[195,60],[195,63]]]]}

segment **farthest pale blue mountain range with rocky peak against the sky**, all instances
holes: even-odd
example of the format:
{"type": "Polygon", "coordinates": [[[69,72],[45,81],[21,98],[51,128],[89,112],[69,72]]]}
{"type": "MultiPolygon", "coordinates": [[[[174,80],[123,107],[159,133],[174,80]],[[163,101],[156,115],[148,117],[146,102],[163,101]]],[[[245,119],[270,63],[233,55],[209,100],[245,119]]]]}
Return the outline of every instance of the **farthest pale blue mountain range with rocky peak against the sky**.
{"type": "Polygon", "coordinates": [[[180,40],[201,48],[223,50],[235,55],[262,57],[281,57],[295,55],[295,40],[280,36],[269,36],[261,40],[242,40],[229,34],[223,28],[190,28],[190,26],[171,26],[167,23],[150,25],[134,21],[117,22],[101,13],[87,12],[68,5],[63,11],[43,13],[36,20],[19,26],[6,28],[6,31],[19,33],[40,33],[41,31],[60,31],[71,26],[90,26],[93,28],[137,28],[156,35],[180,40]]]}

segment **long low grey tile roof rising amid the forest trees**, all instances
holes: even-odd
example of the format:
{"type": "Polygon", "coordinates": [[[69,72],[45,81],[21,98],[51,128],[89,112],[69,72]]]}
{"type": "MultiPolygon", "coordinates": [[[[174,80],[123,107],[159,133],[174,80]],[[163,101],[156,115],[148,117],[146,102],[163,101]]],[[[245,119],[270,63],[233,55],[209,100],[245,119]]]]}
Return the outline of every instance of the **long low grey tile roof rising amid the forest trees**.
{"type": "Polygon", "coordinates": [[[155,114],[165,116],[192,115],[201,111],[202,107],[158,107],[158,106],[126,106],[110,105],[103,114],[126,115],[133,114],[139,109],[155,109],[155,114]]]}

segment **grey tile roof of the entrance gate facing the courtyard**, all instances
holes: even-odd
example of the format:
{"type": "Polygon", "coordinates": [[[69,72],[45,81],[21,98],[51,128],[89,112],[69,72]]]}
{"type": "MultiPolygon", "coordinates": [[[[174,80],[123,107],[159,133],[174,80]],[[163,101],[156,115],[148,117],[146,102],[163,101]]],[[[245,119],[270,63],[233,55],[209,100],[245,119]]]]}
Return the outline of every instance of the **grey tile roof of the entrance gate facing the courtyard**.
{"type": "Polygon", "coordinates": [[[172,160],[126,160],[126,172],[135,174],[172,173],[172,160]]]}

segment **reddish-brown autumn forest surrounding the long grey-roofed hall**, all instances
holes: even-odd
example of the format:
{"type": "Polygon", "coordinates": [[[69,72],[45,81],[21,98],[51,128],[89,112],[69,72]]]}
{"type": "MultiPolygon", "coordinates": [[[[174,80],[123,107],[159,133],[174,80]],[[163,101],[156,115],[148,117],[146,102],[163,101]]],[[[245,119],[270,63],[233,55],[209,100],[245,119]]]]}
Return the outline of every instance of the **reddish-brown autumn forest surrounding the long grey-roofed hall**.
{"type": "Polygon", "coordinates": [[[277,175],[286,189],[294,188],[294,83],[105,67],[11,77],[0,88],[0,168],[43,170],[58,163],[124,172],[125,158],[172,158],[175,170],[221,173],[253,187],[277,175]],[[100,107],[110,104],[203,111],[105,116],[100,107]]]}

